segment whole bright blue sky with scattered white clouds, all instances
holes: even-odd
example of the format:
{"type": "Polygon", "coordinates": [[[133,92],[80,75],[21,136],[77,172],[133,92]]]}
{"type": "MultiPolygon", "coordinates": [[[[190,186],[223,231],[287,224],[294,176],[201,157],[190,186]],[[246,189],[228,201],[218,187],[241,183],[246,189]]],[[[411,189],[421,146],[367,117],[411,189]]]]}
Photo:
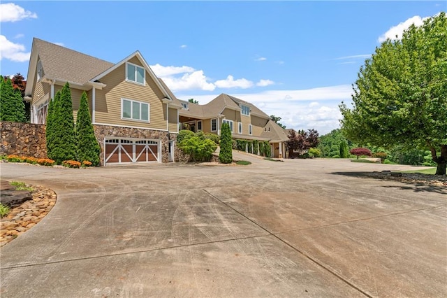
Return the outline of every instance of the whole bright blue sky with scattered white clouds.
{"type": "Polygon", "coordinates": [[[295,129],[339,127],[360,66],[446,1],[2,1],[1,74],[27,76],[32,38],[119,62],[140,50],[180,99],[221,93],[295,129]]]}

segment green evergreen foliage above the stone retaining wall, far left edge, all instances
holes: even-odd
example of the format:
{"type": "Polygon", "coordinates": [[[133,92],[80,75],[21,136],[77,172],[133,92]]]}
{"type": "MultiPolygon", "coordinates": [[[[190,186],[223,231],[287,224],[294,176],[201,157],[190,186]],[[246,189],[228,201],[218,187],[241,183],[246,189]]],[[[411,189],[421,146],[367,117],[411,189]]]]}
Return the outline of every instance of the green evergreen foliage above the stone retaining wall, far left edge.
{"type": "Polygon", "coordinates": [[[13,88],[12,81],[0,76],[0,121],[25,122],[25,105],[20,91],[13,88]]]}

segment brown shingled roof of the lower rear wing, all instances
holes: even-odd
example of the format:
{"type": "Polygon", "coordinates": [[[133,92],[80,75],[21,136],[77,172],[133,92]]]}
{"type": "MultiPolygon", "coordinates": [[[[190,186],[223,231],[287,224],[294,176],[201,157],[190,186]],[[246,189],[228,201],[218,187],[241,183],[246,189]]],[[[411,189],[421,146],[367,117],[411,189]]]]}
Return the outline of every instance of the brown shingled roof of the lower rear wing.
{"type": "Polygon", "coordinates": [[[179,111],[180,115],[206,119],[206,118],[214,118],[218,117],[223,110],[226,108],[230,108],[231,110],[240,111],[240,105],[249,106],[250,113],[256,115],[261,118],[270,119],[270,117],[261,111],[259,108],[254,106],[254,104],[250,104],[247,101],[243,101],[242,99],[238,99],[237,97],[232,97],[228,94],[220,94],[218,97],[213,99],[207,104],[191,104],[189,103],[188,110],[179,111]]]}

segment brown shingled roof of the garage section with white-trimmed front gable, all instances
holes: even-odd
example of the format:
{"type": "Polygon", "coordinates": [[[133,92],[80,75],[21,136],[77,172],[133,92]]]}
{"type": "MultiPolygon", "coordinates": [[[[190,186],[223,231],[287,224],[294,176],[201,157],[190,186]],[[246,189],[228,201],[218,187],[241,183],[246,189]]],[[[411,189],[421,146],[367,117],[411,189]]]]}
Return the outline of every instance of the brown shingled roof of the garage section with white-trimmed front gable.
{"type": "Polygon", "coordinates": [[[173,101],[172,97],[170,97],[171,92],[168,92],[166,85],[163,85],[159,81],[159,78],[155,76],[139,51],[135,51],[117,64],[113,64],[38,38],[33,39],[27,77],[27,80],[31,84],[27,85],[25,94],[31,95],[39,59],[41,60],[43,68],[43,78],[68,82],[71,85],[85,86],[94,84],[97,80],[114,71],[133,57],[137,57],[140,60],[166,99],[173,101]]]}

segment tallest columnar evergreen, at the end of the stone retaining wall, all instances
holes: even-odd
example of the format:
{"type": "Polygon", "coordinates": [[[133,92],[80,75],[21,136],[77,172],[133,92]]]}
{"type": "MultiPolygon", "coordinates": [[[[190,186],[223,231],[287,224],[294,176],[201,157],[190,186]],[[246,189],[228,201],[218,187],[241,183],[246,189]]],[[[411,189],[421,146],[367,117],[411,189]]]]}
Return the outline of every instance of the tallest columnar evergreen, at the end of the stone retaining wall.
{"type": "Polygon", "coordinates": [[[54,104],[52,115],[51,159],[57,164],[64,160],[76,160],[75,125],[73,123],[73,104],[71,102],[70,85],[62,88],[59,100],[54,104]]]}

